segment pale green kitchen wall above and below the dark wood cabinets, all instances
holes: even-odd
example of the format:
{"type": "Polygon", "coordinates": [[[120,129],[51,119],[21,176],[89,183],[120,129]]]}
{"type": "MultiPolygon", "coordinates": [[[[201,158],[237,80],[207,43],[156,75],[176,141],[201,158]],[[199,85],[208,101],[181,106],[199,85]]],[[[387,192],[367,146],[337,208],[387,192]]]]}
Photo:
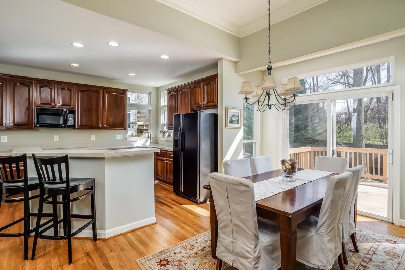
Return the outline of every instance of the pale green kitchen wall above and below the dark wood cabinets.
{"type": "MultiPolygon", "coordinates": [[[[152,107],[151,121],[152,123],[157,122],[157,114],[155,113],[156,111],[155,108],[157,105],[156,101],[157,89],[155,87],[126,84],[90,76],[67,74],[61,72],[18,67],[11,65],[2,65],[2,64],[0,64],[0,73],[28,76],[40,79],[66,81],[72,83],[116,87],[128,89],[129,91],[151,93],[151,107],[152,107]]],[[[151,131],[153,136],[156,137],[156,130],[152,129],[151,131]]],[[[11,145],[17,146],[42,145],[42,144],[62,145],[68,143],[101,143],[101,142],[114,143],[126,141],[125,130],[74,130],[74,129],[35,128],[34,130],[0,130],[0,136],[1,135],[7,136],[7,142],[0,143],[0,149],[3,146],[11,146],[11,145]],[[117,140],[116,134],[122,134],[123,139],[117,140]],[[54,141],[53,135],[59,135],[59,141],[54,141]],[[96,135],[96,140],[91,140],[90,135],[96,135]]]]}

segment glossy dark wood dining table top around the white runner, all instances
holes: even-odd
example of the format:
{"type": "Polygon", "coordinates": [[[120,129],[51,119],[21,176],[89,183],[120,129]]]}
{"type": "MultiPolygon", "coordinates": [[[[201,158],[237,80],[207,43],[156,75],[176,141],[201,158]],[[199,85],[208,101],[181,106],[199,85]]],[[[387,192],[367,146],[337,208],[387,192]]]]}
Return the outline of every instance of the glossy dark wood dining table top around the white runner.
{"type": "MultiPolygon", "coordinates": [[[[281,175],[281,170],[274,170],[244,178],[251,180],[253,183],[257,183],[281,175]]],[[[329,178],[333,175],[337,174],[334,173],[259,200],[256,202],[256,208],[284,216],[292,216],[295,213],[305,211],[323,201],[329,178]]],[[[204,188],[211,190],[210,185],[206,185],[204,188]]]]}

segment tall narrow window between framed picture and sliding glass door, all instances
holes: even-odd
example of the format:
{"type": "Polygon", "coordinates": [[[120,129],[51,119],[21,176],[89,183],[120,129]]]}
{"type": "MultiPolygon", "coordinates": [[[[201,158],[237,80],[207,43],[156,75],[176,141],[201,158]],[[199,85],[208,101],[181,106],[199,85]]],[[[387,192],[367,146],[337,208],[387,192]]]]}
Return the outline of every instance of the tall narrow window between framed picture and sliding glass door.
{"type": "Polygon", "coordinates": [[[244,158],[251,158],[256,156],[256,113],[251,111],[253,109],[254,105],[244,104],[244,158]]]}

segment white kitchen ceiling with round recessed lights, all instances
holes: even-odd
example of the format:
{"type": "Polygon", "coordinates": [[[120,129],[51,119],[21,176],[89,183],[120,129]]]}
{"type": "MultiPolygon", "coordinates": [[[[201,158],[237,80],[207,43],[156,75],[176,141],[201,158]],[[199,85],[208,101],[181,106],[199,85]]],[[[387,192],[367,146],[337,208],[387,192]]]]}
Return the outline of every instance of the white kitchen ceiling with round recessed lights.
{"type": "Polygon", "coordinates": [[[133,84],[166,85],[190,71],[212,69],[223,57],[60,0],[0,1],[0,25],[0,63],[133,84]],[[108,41],[120,46],[111,47],[108,41]],[[73,47],[72,42],[85,47],[73,47]],[[163,54],[170,59],[161,59],[163,54]]]}

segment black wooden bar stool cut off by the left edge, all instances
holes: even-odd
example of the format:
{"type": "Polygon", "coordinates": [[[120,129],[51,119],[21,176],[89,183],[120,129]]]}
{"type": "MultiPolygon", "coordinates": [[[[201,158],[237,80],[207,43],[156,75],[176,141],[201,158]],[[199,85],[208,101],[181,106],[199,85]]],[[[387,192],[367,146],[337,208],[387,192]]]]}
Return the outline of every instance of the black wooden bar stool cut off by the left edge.
{"type": "MultiPolygon", "coordinates": [[[[28,260],[28,237],[35,230],[35,228],[30,228],[30,217],[37,216],[37,213],[32,213],[30,211],[29,201],[39,197],[39,195],[30,196],[30,192],[38,189],[38,178],[28,177],[27,155],[0,158],[0,206],[2,203],[24,202],[24,217],[0,228],[0,232],[2,232],[3,230],[23,221],[24,232],[0,233],[0,237],[24,236],[24,260],[28,260]],[[23,195],[22,197],[21,194],[23,195]]],[[[56,221],[57,217],[53,214],[47,213],[43,215],[53,218],[43,223],[42,226],[45,226],[52,221],[56,221]]]]}

